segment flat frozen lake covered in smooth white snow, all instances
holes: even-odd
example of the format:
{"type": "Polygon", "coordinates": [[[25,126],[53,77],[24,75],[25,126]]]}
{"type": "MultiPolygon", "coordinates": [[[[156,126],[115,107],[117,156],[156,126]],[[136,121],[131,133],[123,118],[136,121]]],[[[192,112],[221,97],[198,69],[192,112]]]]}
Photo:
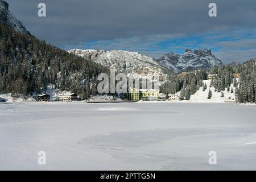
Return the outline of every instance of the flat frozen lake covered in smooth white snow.
{"type": "Polygon", "coordinates": [[[255,105],[0,104],[0,169],[255,170],[255,118],[255,105]]]}

